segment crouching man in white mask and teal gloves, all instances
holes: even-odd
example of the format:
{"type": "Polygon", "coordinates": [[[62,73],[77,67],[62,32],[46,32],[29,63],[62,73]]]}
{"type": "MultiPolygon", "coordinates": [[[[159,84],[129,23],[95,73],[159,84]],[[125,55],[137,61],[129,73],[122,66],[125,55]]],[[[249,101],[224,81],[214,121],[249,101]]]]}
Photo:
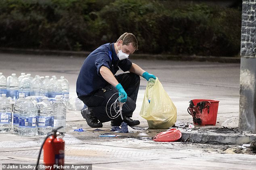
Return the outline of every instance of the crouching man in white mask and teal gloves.
{"type": "Polygon", "coordinates": [[[115,113],[111,104],[119,96],[120,102],[125,102],[122,107],[124,122],[129,126],[140,124],[138,120],[131,119],[136,108],[140,76],[147,81],[155,79],[155,76],[128,59],[136,50],[136,37],[132,33],[124,33],[115,43],[101,45],[84,60],[76,82],[76,93],[88,106],[81,114],[90,127],[102,127],[102,123],[107,121],[111,121],[112,126],[121,125],[120,116],[111,119],[107,114],[110,111],[115,113]],[[119,68],[129,73],[115,75],[119,68]]]}

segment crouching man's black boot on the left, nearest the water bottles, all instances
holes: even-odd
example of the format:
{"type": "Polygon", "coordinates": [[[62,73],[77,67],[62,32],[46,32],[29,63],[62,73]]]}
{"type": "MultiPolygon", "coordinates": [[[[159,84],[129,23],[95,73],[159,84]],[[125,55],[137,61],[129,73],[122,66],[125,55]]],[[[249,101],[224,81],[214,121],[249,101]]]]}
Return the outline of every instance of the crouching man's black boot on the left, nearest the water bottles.
{"type": "Polygon", "coordinates": [[[93,113],[90,113],[88,107],[81,111],[81,114],[84,119],[86,119],[87,124],[90,127],[102,127],[102,123],[99,122],[99,120],[93,115],[93,113]]]}

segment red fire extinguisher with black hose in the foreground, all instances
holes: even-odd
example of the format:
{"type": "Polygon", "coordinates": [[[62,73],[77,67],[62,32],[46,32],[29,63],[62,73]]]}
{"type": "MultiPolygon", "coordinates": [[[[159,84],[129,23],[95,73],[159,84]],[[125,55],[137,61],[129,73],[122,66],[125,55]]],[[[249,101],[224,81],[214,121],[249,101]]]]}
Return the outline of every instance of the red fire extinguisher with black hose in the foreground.
{"type": "MultiPolygon", "coordinates": [[[[40,159],[40,154],[42,148],[44,150],[44,168],[45,170],[60,170],[64,169],[64,149],[65,149],[65,141],[59,137],[57,137],[57,130],[61,127],[54,129],[53,133],[48,135],[42,144],[39,157],[38,164],[40,159]]],[[[38,168],[37,164],[37,168],[38,168]]]]}

